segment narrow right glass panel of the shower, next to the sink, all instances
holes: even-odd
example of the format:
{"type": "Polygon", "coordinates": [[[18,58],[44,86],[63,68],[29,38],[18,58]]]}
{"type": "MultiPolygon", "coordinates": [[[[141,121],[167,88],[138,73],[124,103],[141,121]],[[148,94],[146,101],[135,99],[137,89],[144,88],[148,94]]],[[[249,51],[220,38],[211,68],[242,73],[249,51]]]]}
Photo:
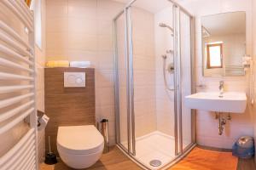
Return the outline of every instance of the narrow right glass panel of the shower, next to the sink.
{"type": "Polygon", "coordinates": [[[193,91],[193,18],[187,14],[185,11],[179,11],[179,39],[180,39],[180,96],[181,96],[181,150],[187,150],[189,145],[192,144],[194,140],[195,127],[192,123],[194,120],[193,112],[186,108],[184,105],[185,96],[189,95],[193,91]]]}

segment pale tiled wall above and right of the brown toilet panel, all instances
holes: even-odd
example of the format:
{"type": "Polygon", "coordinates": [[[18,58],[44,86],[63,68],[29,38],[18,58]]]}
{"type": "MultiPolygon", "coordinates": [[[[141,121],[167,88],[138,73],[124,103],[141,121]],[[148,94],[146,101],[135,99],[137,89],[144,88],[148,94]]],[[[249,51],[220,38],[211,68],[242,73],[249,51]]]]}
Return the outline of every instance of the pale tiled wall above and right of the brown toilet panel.
{"type": "Polygon", "coordinates": [[[46,1],[46,60],[91,61],[96,68],[96,121],[108,118],[111,144],[115,143],[112,21],[123,6],[110,0],[46,1]]]}

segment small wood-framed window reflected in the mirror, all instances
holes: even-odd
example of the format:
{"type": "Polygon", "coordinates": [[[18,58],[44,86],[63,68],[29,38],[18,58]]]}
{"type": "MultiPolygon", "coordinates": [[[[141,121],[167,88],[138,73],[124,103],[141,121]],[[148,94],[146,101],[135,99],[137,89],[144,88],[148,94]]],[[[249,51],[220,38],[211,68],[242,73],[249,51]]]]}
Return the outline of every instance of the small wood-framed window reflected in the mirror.
{"type": "Polygon", "coordinates": [[[223,68],[223,43],[207,44],[207,69],[223,68]]]}

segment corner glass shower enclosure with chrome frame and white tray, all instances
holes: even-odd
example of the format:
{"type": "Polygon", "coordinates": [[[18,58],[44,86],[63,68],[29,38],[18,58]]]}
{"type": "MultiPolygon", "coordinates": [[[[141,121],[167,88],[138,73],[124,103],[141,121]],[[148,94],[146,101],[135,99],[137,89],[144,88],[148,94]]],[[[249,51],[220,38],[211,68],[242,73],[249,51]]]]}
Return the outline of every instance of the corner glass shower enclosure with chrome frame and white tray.
{"type": "Polygon", "coordinates": [[[113,19],[116,139],[145,169],[195,146],[194,17],[170,0],[134,0],[113,19]]]}

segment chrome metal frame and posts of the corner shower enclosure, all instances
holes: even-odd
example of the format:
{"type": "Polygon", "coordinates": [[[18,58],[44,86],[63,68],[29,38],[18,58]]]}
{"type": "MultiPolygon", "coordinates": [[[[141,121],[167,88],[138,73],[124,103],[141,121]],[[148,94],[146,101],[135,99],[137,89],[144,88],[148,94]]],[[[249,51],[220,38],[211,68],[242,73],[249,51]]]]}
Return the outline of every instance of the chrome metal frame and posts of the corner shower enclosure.
{"type": "MultiPolygon", "coordinates": [[[[115,122],[116,122],[116,143],[120,150],[122,150],[126,156],[129,156],[132,161],[135,161],[137,165],[148,169],[143,163],[137,161],[136,156],[136,138],[135,138],[135,116],[134,116],[134,87],[133,87],[133,44],[132,44],[132,20],[131,20],[131,5],[137,0],[132,0],[128,3],[125,8],[117,14],[113,19],[113,60],[114,60],[114,96],[115,96],[115,122]],[[127,139],[128,147],[127,149],[120,142],[120,127],[119,127],[119,72],[118,72],[118,45],[117,45],[117,23],[116,21],[119,17],[125,15],[125,69],[126,69],[126,81],[127,81],[127,139]]],[[[177,161],[181,160],[183,156],[186,156],[190,150],[195,147],[195,111],[191,111],[191,143],[183,149],[183,135],[182,135],[182,105],[181,105],[181,94],[180,89],[181,84],[181,46],[180,46],[180,14],[186,14],[189,16],[190,23],[190,60],[191,60],[191,93],[195,92],[195,18],[192,14],[181,7],[179,4],[172,0],[167,0],[170,2],[173,8],[173,41],[174,41],[174,65],[178,68],[174,72],[174,136],[175,136],[175,158],[169,162],[165,167],[171,167],[177,161]]]]}

